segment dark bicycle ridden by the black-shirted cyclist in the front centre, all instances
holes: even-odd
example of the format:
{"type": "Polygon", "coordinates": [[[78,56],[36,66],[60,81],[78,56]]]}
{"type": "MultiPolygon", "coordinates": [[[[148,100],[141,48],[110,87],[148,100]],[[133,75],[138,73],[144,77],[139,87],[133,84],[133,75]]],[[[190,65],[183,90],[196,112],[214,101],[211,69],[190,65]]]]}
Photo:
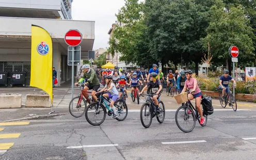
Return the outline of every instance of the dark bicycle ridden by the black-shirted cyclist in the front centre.
{"type": "Polygon", "coordinates": [[[156,119],[159,123],[163,123],[165,120],[165,105],[163,103],[163,101],[160,101],[158,98],[158,107],[159,107],[159,111],[156,110],[156,106],[154,101],[152,100],[152,97],[154,95],[156,95],[155,93],[152,94],[141,94],[142,97],[145,97],[146,95],[146,103],[143,103],[141,108],[140,108],[140,121],[141,124],[145,127],[148,128],[151,123],[152,123],[152,119],[156,116],[156,119]],[[161,105],[163,106],[161,108],[161,105]],[[145,108],[144,108],[145,107],[145,108]],[[148,111],[147,111],[147,107],[148,107],[148,111]],[[143,111],[145,111],[145,113],[143,114],[143,111]],[[149,120],[149,124],[146,124],[143,121],[143,116],[145,116],[145,118],[150,118],[149,120]],[[161,119],[162,117],[162,119],[161,119]]]}

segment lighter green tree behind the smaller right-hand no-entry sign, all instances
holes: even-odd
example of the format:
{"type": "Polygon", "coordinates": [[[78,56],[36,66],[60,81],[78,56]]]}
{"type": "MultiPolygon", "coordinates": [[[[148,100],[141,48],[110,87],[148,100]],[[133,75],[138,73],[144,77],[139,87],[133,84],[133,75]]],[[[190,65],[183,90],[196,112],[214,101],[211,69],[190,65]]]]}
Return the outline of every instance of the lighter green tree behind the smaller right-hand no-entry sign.
{"type": "Polygon", "coordinates": [[[231,45],[238,47],[240,62],[250,61],[250,57],[255,57],[252,53],[253,33],[249,24],[242,6],[227,10],[224,4],[218,3],[218,6],[211,7],[211,22],[206,29],[207,36],[202,38],[202,41],[211,44],[214,61],[226,63],[230,74],[231,58],[228,49],[231,45]]]}

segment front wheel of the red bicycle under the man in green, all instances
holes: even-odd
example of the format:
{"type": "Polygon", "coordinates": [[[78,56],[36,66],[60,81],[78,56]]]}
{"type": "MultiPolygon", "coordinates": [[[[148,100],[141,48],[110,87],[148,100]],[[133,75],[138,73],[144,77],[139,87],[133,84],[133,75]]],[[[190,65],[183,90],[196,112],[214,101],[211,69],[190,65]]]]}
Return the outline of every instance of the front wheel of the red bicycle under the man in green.
{"type": "Polygon", "coordinates": [[[81,97],[79,96],[74,97],[69,103],[69,112],[75,118],[83,116],[85,113],[85,108],[87,106],[87,103],[84,98],[82,98],[80,105],[78,105],[78,101],[80,98],[81,97]],[[72,105],[73,105],[73,109],[72,109],[72,105]]]}

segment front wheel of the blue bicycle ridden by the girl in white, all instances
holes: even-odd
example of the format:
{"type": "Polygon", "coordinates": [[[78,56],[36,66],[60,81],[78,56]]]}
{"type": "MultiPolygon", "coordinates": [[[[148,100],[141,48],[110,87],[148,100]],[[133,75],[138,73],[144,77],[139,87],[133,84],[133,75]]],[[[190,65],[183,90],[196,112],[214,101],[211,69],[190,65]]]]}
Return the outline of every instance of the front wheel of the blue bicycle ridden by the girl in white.
{"type": "Polygon", "coordinates": [[[100,125],[101,123],[104,122],[105,118],[106,118],[106,109],[104,107],[103,104],[100,104],[99,107],[97,107],[99,105],[99,102],[93,102],[91,104],[88,105],[88,107],[86,107],[85,110],[85,118],[87,120],[88,123],[90,123],[91,125],[100,125]],[[100,114],[103,114],[102,118],[100,117],[100,114]],[[91,120],[89,117],[97,117],[98,119],[96,120],[91,120]]]}

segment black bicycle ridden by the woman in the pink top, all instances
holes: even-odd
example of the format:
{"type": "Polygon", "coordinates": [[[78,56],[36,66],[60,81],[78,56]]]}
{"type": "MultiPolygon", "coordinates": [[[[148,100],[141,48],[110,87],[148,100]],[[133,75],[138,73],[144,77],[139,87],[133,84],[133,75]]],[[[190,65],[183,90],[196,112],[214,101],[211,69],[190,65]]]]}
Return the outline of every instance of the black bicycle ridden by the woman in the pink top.
{"type": "MultiPolygon", "coordinates": [[[[186,95],[183,95],[183,96],[187,97],[189,92],[185,94],[186,95]]],[[[194,130],[197,120],[200,124],[200,115],[198,113],[197,108],[195,108],[193,104],[188,100],[188,97],[186,98],[186,102],[183,101],[183,103],[184,105],[180,106],[175,113],[175,122],[181,131],[187,133],[194,130]],[[179,120],[181,120],[181,122],[179,122],[179,120]],[[190,123],[189,120],[193,120],[193,122],[190,123]],[[187,123],[191,124],[191,126],[188,126],[186,128],[182,126],[182,124],[187,124],[187,123]]],[[[201,104],[201,108],[203,109],[202,104],[201,104]]],[[[207,123],[207,115],[205,115],[204,112],[203,112],[203,117],[205,122],[203,124],[200,124],[201,126],[205,126],[207,123]]]]}

